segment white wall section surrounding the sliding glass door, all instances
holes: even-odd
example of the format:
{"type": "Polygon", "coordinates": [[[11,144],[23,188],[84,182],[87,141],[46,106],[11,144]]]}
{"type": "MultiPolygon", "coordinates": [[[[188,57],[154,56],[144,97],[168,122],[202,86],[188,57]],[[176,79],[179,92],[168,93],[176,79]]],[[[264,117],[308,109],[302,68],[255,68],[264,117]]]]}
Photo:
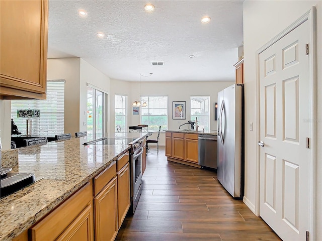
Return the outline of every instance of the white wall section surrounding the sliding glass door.
{"type": "MultiPolygon", "coordinates": [[[[83,125],[83,122],[87,123],[87,83],[94,85],[100,90],[105,92],[110,91],[110,78],[100,72],[98,69],[93,67],[93,65],[86,62],[84,59],[81,59],[81,76],[79,80],[79,131],[86,132],[87,126],[83,125]]],[[[108,106],[107,111],[110,113],[110,100],[111,96],[108,95],[108,106]]],[[[110,114],[108,114],[107,119],[107,132],[110,132],[110,114]]],[[[113,129],[114,130],[114,129],[113,129]]]]}

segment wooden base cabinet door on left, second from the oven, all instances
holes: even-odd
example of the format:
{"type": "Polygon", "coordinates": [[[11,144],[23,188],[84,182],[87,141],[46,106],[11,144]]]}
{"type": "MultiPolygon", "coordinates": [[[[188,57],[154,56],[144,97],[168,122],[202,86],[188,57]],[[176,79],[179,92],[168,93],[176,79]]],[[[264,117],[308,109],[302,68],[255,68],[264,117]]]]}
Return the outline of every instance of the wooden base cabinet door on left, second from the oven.
{"type": "Polygon", "coordinates": [[[118,232],[116,177],[94,198],[94,208],[96,240],[114,240],[118,232]]]}

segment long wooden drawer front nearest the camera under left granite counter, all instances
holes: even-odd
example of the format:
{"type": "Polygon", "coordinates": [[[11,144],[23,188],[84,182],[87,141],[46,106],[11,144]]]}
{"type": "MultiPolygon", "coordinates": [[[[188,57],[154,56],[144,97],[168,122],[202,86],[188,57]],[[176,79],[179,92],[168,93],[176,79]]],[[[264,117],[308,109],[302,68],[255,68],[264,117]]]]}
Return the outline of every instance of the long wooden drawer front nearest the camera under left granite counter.
{"type": "Polygon", "coordinates": [[[92,194],[92,185],[87,183],[30,229],[31,240],[55,240],[72,220],[92,202],[92,194]]]}

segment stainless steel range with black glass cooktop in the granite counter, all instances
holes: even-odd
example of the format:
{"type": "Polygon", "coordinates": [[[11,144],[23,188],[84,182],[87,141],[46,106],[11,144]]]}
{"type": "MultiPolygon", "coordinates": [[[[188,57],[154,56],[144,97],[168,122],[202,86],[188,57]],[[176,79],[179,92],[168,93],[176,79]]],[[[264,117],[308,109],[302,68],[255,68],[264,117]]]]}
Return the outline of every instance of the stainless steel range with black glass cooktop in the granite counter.
{"type": "MultiPolygon", "coordinates": [[[[134,134],[133,134],[134,135],[134,134]]],[[[101,138],[86,142],[84,145],[131,145],[130,149],[130,189],[133,214],[141,196],[143,139],[137,137],[101,138]]]]}

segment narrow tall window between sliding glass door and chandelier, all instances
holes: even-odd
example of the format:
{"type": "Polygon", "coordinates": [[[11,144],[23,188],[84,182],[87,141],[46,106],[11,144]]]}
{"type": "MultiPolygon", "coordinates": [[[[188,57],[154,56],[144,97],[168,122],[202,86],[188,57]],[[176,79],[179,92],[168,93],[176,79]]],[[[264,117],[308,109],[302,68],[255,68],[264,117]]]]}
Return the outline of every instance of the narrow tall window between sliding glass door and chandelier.
{"type": "Polygon", "coordinates": [[[115,95],[115,132],[116,126],[121,126],[121,131],[127,130],[126,119],[127,119],[127,96],[115,95]]]}

